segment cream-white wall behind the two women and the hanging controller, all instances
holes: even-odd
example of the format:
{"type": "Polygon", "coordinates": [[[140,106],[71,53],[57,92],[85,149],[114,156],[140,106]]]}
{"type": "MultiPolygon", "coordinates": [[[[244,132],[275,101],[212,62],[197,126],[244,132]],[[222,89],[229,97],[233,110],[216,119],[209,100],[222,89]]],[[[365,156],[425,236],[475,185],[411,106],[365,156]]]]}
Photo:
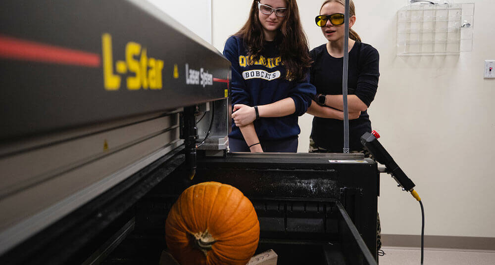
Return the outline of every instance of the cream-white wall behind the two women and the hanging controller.
{"type": "MultiPolygon", "coordinates": [[[[428,235],[495,237],[495,80],[483,79],[485,59],[495,59],[494,0],[475,2],[473,51],[455,56],[396,56],[396,12],[402,0],[355,0],[353,29],[380,52],[380,83],[369,113],[381,143],[416,183],[428,235]]],[[[322,0],[299,0],[310,48],[325,43],[314,25],[322,0]]],[[[460,2],[452,1],[451,2],[460,2]]],[[[213,0],[213,45],[247,19],[251,1],[213,0]]],[[[309,115],[299,119],[305,152],[309,115]]],[[[420,234],[418,203],[382,175],[382,233],[420,234]]]]}

